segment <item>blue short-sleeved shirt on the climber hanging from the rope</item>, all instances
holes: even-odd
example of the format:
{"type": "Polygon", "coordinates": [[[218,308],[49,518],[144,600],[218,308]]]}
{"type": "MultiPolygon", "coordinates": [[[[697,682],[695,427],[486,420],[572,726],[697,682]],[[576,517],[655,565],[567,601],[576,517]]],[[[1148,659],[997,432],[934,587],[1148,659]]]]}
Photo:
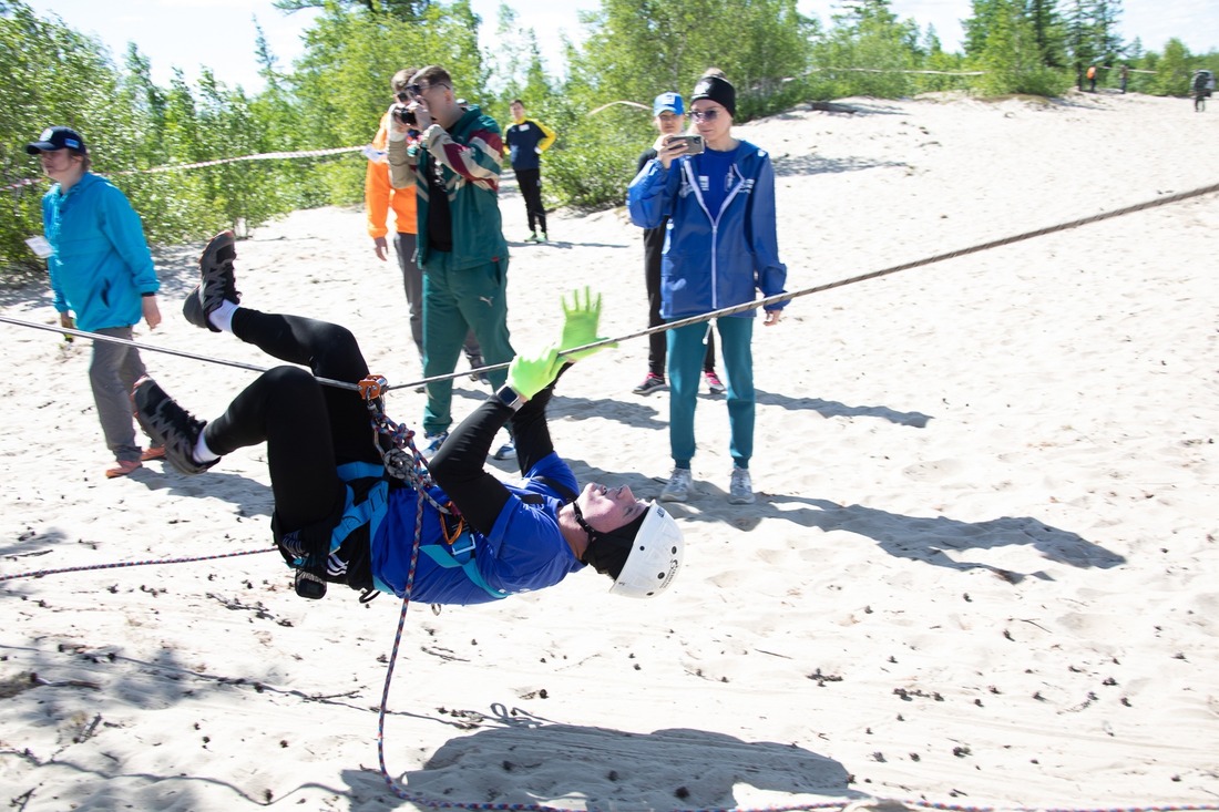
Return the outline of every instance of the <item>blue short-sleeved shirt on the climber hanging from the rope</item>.
{"type": "MultiPolygon", "coordinates": [[[[521,485],[508,485],[512,497],[500,512],[491,533],[472,534],[474,561],[482,579],[503,595],[552,586],[568,573],[585,567],[558,529],[557,515],[562,500],[536,477],[561,483],[573,493],[578,489],[572,469],[552,451],[528,471],[521,485]],[[521,499],[527,494],[541,496],[540,502],[530,504],[531,500],[521,499]]],[[[446,500],[439,489],[433,491],[433,496],[441,504],[446,500]]],[[[406,593],[406,579],[411,571],[417,500],[416,491],[410,488],[390,491],[384,518],[369,545],[373,583],[380,591],[393,593],[399,597],[406,593]]],[[[441,538],[440,515],[430,504],[424,502],[422,544],[435,544],[441,538]]],[[[414,569],[411,600],[419,604],[464,605],[496,599],[461,568],[445,568],[429,556],[421,555],[414,569]]]]}

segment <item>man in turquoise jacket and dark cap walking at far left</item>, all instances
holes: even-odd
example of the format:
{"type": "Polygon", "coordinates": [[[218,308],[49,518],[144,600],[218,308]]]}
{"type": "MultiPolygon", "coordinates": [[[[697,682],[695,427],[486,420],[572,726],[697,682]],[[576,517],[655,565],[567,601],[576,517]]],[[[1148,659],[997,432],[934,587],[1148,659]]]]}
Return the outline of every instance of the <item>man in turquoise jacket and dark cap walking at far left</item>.
{"type": "MultiPolygon", "coordinates": [[[[43,196],[43,232],[54,251],[48,267],[60,323],[127,340],[140,318],[156,328],[161,284],[140,217],[110,180],[89,172],[84,139],[67,127],[51,127],[26,151],[39,156],[44,174],[55,180],[43,196]]],[[[144,374],[135,347],[94,341],[89,383],[106,446],[115,455],[108,478],[165,456],[156,446],[141,452],[135,443],[130,393],[144,374]]]]}

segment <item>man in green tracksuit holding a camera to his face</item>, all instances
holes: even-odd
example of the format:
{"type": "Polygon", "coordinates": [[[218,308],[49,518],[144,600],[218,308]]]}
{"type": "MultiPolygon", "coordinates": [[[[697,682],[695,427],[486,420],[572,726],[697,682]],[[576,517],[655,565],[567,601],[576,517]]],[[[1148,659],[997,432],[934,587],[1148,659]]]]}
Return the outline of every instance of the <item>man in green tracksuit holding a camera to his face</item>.
{"type": "MultiPolygon", "coordinates": [[[[516,352],[508,337],[508,245],[500,217],[500,126],[477,106],[462,106],[449,72],[429,65],[411,78],[407,93],[422,132],[411,144],[407,126],[391,122],[390,183],[414,184],[418,195],[418,261],[423,268],[423,374],[453,372],[466,332],[474,330],[488,365],[516,352]]],[[[503,385],[503,369],[488,373],[503,385]]],[[[423,410],[425,454],[439,450],[452,424],[452,380],[428,384],[423,410]]],[[[516,457],[511,441],[495,454],[516,457]]]]}

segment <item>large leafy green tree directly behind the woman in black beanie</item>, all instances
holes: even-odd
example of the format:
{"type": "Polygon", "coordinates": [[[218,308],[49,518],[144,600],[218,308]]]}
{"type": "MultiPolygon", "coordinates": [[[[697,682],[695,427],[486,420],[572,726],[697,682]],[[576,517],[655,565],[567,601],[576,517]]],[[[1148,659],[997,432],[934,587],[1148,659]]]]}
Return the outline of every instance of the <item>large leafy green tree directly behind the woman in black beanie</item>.
{"type": "Polygon", "coordinates": [[[588,37],[568,48],[567,80],[546,107],[560,132],[546,163],[550,188],[573,205],[622,202],[635,160],[656,137],[651,100],[689,94],[708,67],[736,87],[739,122],[807,91],[816,23],[795,0],[602,0],[581,24],[588,37]]]}

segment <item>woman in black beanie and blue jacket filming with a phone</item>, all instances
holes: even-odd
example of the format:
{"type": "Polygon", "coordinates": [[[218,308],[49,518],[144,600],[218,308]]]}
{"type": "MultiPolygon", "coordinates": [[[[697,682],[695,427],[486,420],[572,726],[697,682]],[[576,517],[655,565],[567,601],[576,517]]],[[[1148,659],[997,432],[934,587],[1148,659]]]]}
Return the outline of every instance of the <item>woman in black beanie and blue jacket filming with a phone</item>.
{"type": "MultiPolygon", "coordinates": [[[[666,321],[742,305],[784,293],[787,268],[779,261],[774,207],[774,167],[766,150],[733,138],[736,90],[728,79],[698,79],[690,116],[706,151],[689,155],[678,135],[656,139],[657,156],[630,182],[627,202],[636,226],[656,228],[669,217],[664,244],[661,315],[666,321]]],[[[729,452],[733,471],[728,501],[755,501],[750,477],[753,456],[752,310],[718,318],[719,350],[728,380],[729,452]]],[[[766,324],[778,324],[783,305],[766,308],[766,324]]],[[[667,332],[669,356],[669,451],[673,473],[664,501],[690,497],[695,455],[694,413],[703,338],[709,323],[667,332]]]]}

